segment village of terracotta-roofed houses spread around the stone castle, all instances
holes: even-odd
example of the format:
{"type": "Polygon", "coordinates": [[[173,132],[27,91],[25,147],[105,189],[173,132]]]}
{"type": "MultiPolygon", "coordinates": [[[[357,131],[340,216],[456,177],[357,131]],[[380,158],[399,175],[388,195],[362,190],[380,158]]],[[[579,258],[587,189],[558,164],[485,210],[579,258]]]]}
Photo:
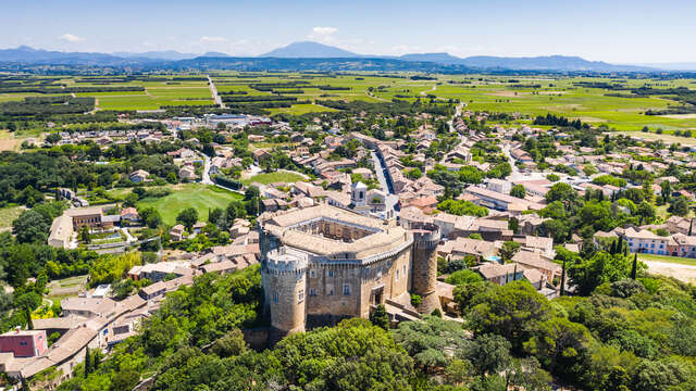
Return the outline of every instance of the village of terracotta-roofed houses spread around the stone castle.
{"type": "MultiPolygon", "coordinates": [[[[107,148],[111,143],[128,143],[134,139],[146,143],[161,142],[166,138],[175,138],[179,131],[196,127],[213,127],[223,137],[229,137],[245,127],[262,126],[264,134],[249,135],[249,141],[264,142],[285,135],[289,143],[281,153],[287,153],[295,166],[306,167],[315,179],[295,172],[307,179],[249,184],[246,188],[256,187],[259,190],[260,212],[271,214],[326,204],[363,216],[396,222],[407,228],[434,225],[442,235],[436,249],[438,266],[463,260],[465,267],[476,272],[486,281],[502,286],[525,279],[548,299],[558,297],[561,291],[573,292],[573,287],[563,281],[561,265],[554,262],[558,250],[556,244],[559,243],[544,229],[545,223],[551,218],[539,215],[549,205],[548,193],[556,185],[567,184],[581,198],[585,194],[599,194],[601,199],[611,200],[620,192],[632,188],[642,189],[643,186],[625,180],[617,186],[616,181],[602,181],[606,176],[618,177],[638,165],[641,171],[648,173],[662,173],[670,166],[686,169],[696,167],[686,151],[669,148],[654,150],[636,146],[612,153],[600,153],[595,148],[577,146],[577,140],[569,142],[571,136],[556,129],[496,125],[481,131],[468,127],[467,124],[472,118],[483,122],[486,114],[465,111],[455,115],[453,121],[448,123],[447,134],[456,142],[440,156],[431,153],[433,142],[440,135],[430,125],[433,118],[428,118],[427,114],[423,114],[423,125],[409,136],[408,142],[402,139],[381,140],[356,131],[343,133],[341,124],[320,124],[316,119],[318,125],[328,125],[325,126],[328,130],[322,137],[321,144],[316,144],[314,139],[293,131],[286,123],[272,123],[268,118],[250,116],[219,115],[203,121],[174,118],[158,122],[162,124],[158,127],[163,126],[164,131],[141,129],[64,134],[59,143],[79,143],[85,138],[91,138],[101,148],[107,148]],[[559,152],[557,157],[545,160],[545,169],[539,169],[535,159],[524,150],[524,143],[520,141],[540,135],[552,137],[552,148],[559,152]],[[462,187],[453,201],[446,201],[446,187],[438,184],[438,177],[430,173],[447,172],[456,176],[463,167],[475,167],[481,173],[490,172],[499,163],[490,162],[488,155],[481,154],[482,142],[493,142],[493,148],[498,151],[493,154],[504,156],[504,163],[509,163],[509,175],[505,175],[507,178],[480,177],[471,180],[462,187]],[[566,168],[559,171],[559,167],[566,168]],[[569,175],[572,172],[579,174],[569,175]],[[423,175],[425,173],[428,175],[423,175]],[[481,213],[449,213],[443,211],[445,202],[477,207],[481,213]]],[[[316,129],[321,129],[321,126],[315,126],[314,131],[316,129]]],[[[393,133],[385,131],[386,139],[393,137],[393,133]]],[[[258,148],[253,150],[253,159],[249,164],[235,156],[233,149],[228,147],[213,143],[215,153],[209,157],[195,149],[199,146],[196,139],[188,139],[187,142],[194,149],[181,148],[167,152],[179,167],[178,177],[186,181],[216,184],[215,186],[223,188],[226,188],[226,184],[217,181],[217,175],[224,176],[233,168],[240,171],[243,175],[263,172],[263,167],[268,168],[268,162],[277,153],[258,148]]],[[[147,185],[152,180],[150,174],[142,169],[130,173],[128,179],[134,186],[147,185]]],[[[649,188],[655,197],[664,197],[663,192],[670,191],[667,194],[670,198],[694,201],[694,194],[686,190],[672,192],[669,185],[657,185],[664,182],[676,185],[679,179],[670,175],[657,177],[649,188]]],[[[244,192],[241,187],[231,190],[244,192]]],[[[144,223],[137,209],[119,204],[89,206],[85,199],[70,189],[60,189],[57,197],[69,200],[74,207],[67,209],[53,220],[48,239],[50,245],[76,248],[84,239],[79,232],[85,230],[124,232],[122,241],[96,245],[92,243],[90,249],[127,251],[129,247],[142,242],[132,235],[144,223]]],[[[629,207],[625,209],[630,213],[629,207]]],[[[452,207],[450,211],[457,210],[452,207]]],[[[177,224],[171,227],[169,240],[177,242],[194,238],[206,225],[198,222],[187,230],[182,224],[177,224]]],[[[83,291],[77,298],[62,300],[60,317],[36,319],[32,329],[16,329],[0,336],[2,368],[9,376],[24,379],[53,366],[69,375],[83,360],[86,350],[108,351],[133,336],[138,325],[159,307],[167,292],[191,285],[196,276],[244,269],[265,256],[259,249],[259,227],[256,219],[235,219],[228,234],[229,244],[166,258],[162,257],[161,238],[158,238],[160,262],[135,266],[127,275],[134,281],[147,279],[150,285],[121,301],[110,299],[108,285],[83,291]]],[[[631,253],[696,257],[696,236],[693,234],[692,219],[674,215],[659,224],[598,230],[593,234],[592,240],[598,245],[606,245],[621,238],[631,253]]],[[[562,248],[579,253],[584,240],[587,238],[573,234],[564,240],[562,248]]],[[[443,310],[456,318],[459,308],[452,294],[455,286],[446,282],[447,279],[448,274],[438,273],[437,295],[443,310]]]]}

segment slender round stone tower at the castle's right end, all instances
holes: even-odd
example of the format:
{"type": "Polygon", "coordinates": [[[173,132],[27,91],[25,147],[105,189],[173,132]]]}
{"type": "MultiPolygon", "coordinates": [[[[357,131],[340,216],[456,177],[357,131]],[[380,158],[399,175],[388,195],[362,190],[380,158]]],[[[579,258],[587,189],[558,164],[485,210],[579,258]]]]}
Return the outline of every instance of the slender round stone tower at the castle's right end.
{"type": "Polygon", "coordinates": [[[439,243],[439,227],[431,223],[411,224],[413,234],[412,256],[412,291],[421,297],[418,312],[430,314],[440,308],[437,297],[437,244],[439,243]]]}

